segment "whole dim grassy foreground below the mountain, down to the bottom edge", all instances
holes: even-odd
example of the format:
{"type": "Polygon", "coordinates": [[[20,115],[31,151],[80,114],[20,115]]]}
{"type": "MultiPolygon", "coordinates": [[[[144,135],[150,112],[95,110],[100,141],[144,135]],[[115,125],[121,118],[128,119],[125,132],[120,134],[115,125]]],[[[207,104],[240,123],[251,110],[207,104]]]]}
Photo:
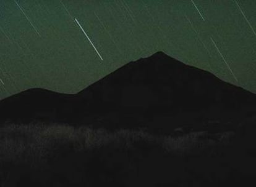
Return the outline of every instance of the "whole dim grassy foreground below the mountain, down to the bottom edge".
{"type": "Polygon", "coordinates": [[[173,137],[66,124],[7,124],[0,129],[0,186],[237,183],[234,177],[242,181],[247,173],[237,166],[241,157],[234,156],[233,138],[233,132],[173,137]]]}

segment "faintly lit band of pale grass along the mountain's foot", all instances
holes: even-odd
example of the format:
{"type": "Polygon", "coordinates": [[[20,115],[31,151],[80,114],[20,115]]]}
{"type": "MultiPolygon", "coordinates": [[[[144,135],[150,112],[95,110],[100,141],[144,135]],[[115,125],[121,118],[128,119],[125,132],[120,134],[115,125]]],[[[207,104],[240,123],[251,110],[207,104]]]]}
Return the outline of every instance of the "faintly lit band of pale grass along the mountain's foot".
{"type": "MultiPolygon", "coordinates": [[[[228,143],[233,133],[223,133],[218,140],[203,138],[207,132],[189,133],[181,137],[151,135],[129,129],[108,132],[105,129],[72,127],[65,124],[6,125],[0,129],[1,161],[40,162],[61,151],[86,151],[113,146],[134,149],[141,146],[157,146],[168,153],[190,154],[202,148],[228,143]],[[66,149],[66,150],[65,150],[66,149]]],[[[217,135],[216,135],[217,136],[217,135]]],[[[34,163],[33,163],[34,164],[34,163]]]]}

